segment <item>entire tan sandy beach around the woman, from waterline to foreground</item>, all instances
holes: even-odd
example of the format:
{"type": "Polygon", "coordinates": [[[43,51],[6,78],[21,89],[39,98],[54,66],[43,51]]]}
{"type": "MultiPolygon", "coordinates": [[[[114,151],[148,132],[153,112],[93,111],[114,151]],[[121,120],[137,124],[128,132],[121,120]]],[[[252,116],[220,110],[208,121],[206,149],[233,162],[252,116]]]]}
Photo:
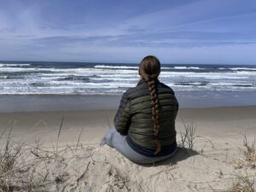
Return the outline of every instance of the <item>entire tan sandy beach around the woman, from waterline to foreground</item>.
{"type": "Polygon", "coordinates": [[[179,147],[172,159],[147,166],[99,146],[114,114],[113,109],[0,113],[0,131],[12,129],[12,140],[26,143],[26,162],[34,160],[29,164],[34,172],[47,175],[50,182],[38,179],[49,191],[225,191],[241,176],[256,179],[255,160],[242,154],[242,134],[248,143],[256,138],[255,106],[180,109],[177,143],[182,143],[183,123],[194,125],[194,148],[179,147]],[[38,139],[42,154],[37,156],[27,146],[38,139]]]}

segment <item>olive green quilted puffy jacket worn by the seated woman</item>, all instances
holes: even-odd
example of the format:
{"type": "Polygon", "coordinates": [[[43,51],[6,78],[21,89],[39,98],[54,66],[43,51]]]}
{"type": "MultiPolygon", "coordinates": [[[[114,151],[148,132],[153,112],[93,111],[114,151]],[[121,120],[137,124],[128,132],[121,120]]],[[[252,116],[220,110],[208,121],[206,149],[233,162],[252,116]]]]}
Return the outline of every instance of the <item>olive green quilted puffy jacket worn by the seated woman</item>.
{"type": "MultiPolygon", "coordinates": [[[[166,146],[176,140],[175,119],[178,102],[174,91],[166,84],[156,80],[155,87],[160,109],[159,139],[162,146],[166,146]]],[[[114,125],[121,135],[128,135],[139,146],[156,148],[151,97],[147,82],[140,80],[136,87],[125,91],[114,117],[114,125]]]]}

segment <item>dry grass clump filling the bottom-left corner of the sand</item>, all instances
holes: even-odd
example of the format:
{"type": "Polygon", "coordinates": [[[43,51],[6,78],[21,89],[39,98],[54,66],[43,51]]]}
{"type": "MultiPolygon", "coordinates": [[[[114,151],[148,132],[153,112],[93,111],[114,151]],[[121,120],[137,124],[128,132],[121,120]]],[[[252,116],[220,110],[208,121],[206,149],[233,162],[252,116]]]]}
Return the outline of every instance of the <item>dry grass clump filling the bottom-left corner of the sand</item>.
{"type": "Polygon", "coordinates": [[[11,191],[47,191],[49,183],[47,175],[36,172],[33,164],[27,157],[26,145],[15,143],[11,139],[11,131],[0,142],[0,192],[11,191]]]}

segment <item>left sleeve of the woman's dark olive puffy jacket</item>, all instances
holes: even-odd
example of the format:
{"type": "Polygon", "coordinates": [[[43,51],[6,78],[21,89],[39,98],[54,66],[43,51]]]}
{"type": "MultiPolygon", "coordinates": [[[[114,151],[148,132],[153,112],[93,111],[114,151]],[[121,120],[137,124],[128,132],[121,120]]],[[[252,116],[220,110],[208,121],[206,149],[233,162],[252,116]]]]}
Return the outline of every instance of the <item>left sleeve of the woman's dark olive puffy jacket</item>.
{"type": "Polygon", "coordinates": [[[130,114],[130,101],[124,93],[121,98],[119,109],[114,117],[114,126],[116,131],[121,135],[125,136],[128,134],[129,127],[131,125],[131,114],[130,114]]]}

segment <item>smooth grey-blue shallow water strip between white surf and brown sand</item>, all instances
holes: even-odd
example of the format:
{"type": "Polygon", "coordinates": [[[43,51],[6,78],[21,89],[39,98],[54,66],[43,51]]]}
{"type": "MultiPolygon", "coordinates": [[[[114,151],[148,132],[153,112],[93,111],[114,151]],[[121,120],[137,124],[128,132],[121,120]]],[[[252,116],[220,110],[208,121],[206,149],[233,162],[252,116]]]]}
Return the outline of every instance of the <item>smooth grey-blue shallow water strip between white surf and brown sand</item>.
{"type": "MultiPolygon", "coordinates": [[[[179,108],[256,106],[253,92],[176,91],[179,108]]],[[[0,113],[108,110],[119,108],[121,95],[0,95],[0,113]]]]}

